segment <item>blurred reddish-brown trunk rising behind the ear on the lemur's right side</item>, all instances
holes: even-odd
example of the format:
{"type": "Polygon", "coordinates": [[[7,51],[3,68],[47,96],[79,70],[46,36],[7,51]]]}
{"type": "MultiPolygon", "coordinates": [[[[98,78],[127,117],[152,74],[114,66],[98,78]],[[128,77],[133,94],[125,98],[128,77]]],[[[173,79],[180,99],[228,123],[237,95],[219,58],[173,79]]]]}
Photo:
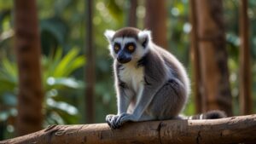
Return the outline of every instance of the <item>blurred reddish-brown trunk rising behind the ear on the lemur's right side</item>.
{"type": "Polygon", "coordinates": [[[166,0],[147,0],[144,26],[152,32],[154,43],[167,49],[166,0]]]}

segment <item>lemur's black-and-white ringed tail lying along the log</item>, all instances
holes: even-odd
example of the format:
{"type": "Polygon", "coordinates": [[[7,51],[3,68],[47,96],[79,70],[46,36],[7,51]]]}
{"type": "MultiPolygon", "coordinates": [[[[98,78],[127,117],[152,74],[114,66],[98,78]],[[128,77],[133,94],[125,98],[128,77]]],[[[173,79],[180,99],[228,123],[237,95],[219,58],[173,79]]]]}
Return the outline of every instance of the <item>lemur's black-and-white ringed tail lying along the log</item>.
{"type": "Polygon", "coordinates": [[[185,119],[218,119],[226,118],[227,115],[223,111],[213,110],[201,114],[196,114],[194,116],[187,117],[185,119]]]}

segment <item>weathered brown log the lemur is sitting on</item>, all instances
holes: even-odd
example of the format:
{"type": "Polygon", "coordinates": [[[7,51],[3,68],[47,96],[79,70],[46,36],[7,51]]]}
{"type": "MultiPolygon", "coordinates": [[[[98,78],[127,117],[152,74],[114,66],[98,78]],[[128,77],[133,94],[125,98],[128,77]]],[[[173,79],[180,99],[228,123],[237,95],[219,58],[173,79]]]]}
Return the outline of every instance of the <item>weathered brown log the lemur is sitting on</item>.
{"type": "Polygon", "coordinates": [[[52,125],[44,130],[0,141],[9,143],[256,143],[256,115],[211,120],[166,120],[108,124],[52,125]]]}

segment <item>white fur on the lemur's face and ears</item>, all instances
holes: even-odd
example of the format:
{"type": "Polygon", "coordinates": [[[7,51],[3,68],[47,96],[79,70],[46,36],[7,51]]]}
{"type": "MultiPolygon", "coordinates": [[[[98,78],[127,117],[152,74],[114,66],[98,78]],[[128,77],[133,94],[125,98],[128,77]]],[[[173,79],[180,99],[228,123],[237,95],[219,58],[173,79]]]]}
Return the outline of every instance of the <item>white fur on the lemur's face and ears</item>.
{"type": "Polygon", "coordinates": [[[131,61],[137,61],[140,60],[143,55],[145,55],[148,52],[148,44],[146,48],[143,47],[142,43],[148,38],[148,43],[151,41],[151,32],[150,31],[141,31],[138,32],[138,40],[136,40],[134,37],[115,37],[113,39],[113,35],[115,34],[112,30],[107,30],[104,35],[108,39],[108,49],[110,51],[110,55],[113,56],[113,59],[116,58],[116,54],[113,51],[113,43],[119,43],[121,45],[121,49],[124,49],[125,43],[136,43],[136,49],[132,53],[131,61]]]}

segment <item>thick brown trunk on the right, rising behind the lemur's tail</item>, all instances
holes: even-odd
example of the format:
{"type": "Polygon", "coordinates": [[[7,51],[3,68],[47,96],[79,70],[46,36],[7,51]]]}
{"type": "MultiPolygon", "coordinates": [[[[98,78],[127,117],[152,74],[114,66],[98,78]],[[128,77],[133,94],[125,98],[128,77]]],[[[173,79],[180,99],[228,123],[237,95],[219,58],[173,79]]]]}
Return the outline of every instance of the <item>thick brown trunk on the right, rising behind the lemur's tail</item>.
{"type": "Polygon", "coordinates": [[[201,67],[203,112],[224,110],[232,115],[228,55],[225,49],[224,16],[221,0],[196,0],[201,67]]]}

